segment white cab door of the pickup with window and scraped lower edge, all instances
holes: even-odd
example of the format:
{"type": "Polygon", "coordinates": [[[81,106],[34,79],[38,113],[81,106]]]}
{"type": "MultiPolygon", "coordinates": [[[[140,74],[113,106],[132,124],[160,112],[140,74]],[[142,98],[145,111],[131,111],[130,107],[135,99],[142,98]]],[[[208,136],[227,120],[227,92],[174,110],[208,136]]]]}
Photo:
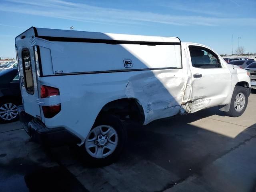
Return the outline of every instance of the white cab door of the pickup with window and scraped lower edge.
{"type": "Polygon", "coordinates": [[[230,70],[209,48],[187,45],[192,73],[191,112],[226,104],[232,89],[230,70]]]}

